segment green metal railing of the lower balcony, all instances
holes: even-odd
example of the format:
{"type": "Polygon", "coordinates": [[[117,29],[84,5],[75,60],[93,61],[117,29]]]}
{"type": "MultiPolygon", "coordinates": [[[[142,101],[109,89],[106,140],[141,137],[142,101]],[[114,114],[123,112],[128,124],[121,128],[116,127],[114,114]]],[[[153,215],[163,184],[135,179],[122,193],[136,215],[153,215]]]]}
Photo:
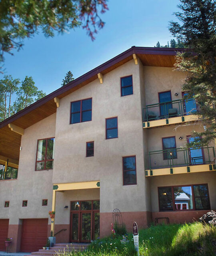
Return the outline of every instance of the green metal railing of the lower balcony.
{"type": "Polygon", "coordinates": [[[146,154],[146,170],[214,163],[214,147],[172,148],[146,154]]]}

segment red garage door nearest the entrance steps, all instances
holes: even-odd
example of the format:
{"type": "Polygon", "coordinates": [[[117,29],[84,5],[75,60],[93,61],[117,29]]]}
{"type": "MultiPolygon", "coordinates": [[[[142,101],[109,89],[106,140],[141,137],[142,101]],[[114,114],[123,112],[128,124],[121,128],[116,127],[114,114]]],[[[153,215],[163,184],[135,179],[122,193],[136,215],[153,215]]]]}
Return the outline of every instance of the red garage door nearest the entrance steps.
{"type": "Polygon", "coordinates": [[[48,219],[22,220],[21,252],[36,252],[46,246],[48,219]]]}

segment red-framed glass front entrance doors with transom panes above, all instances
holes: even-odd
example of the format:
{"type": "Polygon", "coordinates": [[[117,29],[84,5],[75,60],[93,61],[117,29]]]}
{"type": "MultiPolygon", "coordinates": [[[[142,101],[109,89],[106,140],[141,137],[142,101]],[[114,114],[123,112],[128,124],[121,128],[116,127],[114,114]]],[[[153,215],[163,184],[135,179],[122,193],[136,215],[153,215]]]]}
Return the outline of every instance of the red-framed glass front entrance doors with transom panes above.
{"type": "Polygon", "coordinates": [[[70,242],[90,242],[100,235],[100,201],[71,202],[70,242]]]}

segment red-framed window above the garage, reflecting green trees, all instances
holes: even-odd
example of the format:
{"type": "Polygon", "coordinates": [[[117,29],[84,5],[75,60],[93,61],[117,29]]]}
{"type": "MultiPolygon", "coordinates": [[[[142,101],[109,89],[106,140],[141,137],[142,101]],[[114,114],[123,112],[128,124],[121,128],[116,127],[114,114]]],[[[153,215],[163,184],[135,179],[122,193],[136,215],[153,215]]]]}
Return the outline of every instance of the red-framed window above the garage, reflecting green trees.
{"type": "Polygon", "coordinates": [[[54,138],[38,140],[36,170],[53,169],[54,138]]]}

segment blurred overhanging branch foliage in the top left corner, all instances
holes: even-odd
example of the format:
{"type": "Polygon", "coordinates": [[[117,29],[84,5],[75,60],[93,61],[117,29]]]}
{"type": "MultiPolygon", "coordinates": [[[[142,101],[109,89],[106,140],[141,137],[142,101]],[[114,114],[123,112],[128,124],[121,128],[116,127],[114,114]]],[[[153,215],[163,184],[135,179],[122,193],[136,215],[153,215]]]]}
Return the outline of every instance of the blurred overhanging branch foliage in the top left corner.
{"type": "Polygon", "coordinates": [[[106,0],[1,0],[0,1],[0,61],[3,53],[23,46],[39,30],[46,37],[83,25],[94,40],[97,28],[104,22],[98,12],[108,10],[106,0]]]}

